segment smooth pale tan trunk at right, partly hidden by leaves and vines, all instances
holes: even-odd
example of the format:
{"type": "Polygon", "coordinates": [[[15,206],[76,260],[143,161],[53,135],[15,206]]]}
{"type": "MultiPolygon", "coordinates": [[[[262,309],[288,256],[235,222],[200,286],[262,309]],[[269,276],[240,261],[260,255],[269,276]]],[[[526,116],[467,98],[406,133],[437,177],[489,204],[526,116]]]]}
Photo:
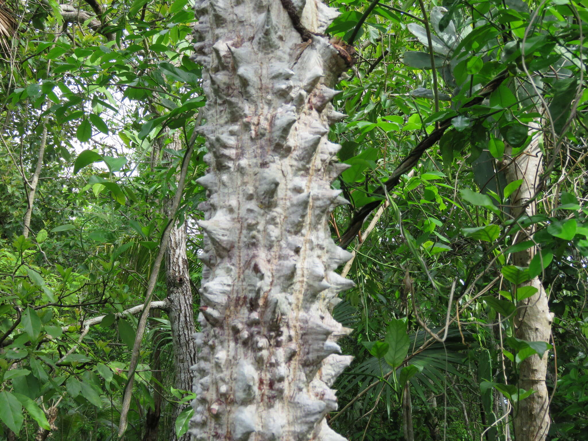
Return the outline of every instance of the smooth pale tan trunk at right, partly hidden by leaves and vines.
{"type": "MultiPolygon", "coordinates": [[[[543,171],[543,154],[539,149],[539,133],[534,133],[534,139],[524,152],[519,153],[506,168],[508,183],[522,179],[519,189],[511,195],[511,214],[519,216],[523,209],[527,215],[537,212],[536,202],[531,202],[526,208],[523,205],[531,199],[537,191],[540,175],[543,171]]],[[[512,149],[507,150],[510,155],[512,149]]],[[[513,243],[529,240],[534,232],[533,227],[522,229],[513,243]]],[[[532,247],[513,253],[513,264],[527,267],[539,249],[532,247]]],[[[533,286],[537,293],[517,304],[515,316],[516,337],[529,342],[549,342],[551,334],[552,315],[547,306],[547,293],[539,277],[535,277],[519,286],[533,286]]],[[[519,384],[524,390],[533,389],[529,397],[521,400],[514,412],[514,429],[517,441],[543,441],[549,430],[549,395],[545,385],[547,373],[547,353],[542,357],[533,355],[520,363],[519,384]]]]}

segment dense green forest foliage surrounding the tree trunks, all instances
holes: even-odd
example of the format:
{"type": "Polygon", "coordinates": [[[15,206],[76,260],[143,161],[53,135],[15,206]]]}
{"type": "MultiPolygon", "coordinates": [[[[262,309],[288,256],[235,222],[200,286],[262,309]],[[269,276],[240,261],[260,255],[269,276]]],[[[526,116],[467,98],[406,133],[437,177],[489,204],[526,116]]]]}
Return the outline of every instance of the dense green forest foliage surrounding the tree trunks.
{"type": "MultiPolygon", "coordinates": [[[[356,48],[335,97],[348,116],[330,133],[350,165],[335,184],[350,205],[333,213],[333,236],[370,203],[387,205],[342,269],[357,286],[334,315],[354,329],[343,351],[356,359],[330,425],[352,440],[516,439],[512,416],[528,395],[517,369],[539,354],[548,439],[588,439],[588,4],[330,4],[342,14],[329,34],[356,48]],[[464,106],[497,77],[487,99],[464,106]],[[447,119],[400,185],[377,194],[447,119]],[[517,155],[537,137],[537,215],[513,219],[521,183],[506,182],[505,149],[517,155]],[[529,225],[530,243],[513,245],[529,225]],[[529,268],[513,265],[532,245],[541,252],[529,268]],[[554,313],[550,342],[513,334],[517,302],[534,293],[517,285],[534,276],[554,313]]],[[[0,3],[0,437],[116,439],[133,349],[126,438],[186,432],[191,408],[172,415],[191,392],[174,387],[165,305],[140,346],[142,308],[124,312],[145,302],[153,268],[152,300],[165,303],[155,262],[186,161],[175,218],[188,228],[198,310],[206,149],[194,131],[205,96],[189,58],[193,21],[188,0],[0,3]]]]}

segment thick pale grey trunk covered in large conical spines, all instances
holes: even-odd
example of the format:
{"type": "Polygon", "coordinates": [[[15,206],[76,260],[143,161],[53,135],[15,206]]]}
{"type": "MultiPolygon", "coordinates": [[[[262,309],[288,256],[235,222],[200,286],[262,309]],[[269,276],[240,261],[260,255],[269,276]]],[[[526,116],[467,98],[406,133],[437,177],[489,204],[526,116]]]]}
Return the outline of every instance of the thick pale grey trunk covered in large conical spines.
{"type": "Polygon", "coordinates": [[[344,201],[326,134],[343,116],[329,102],[347,54],[303,29],[323,32],[336,12],[318,0],[195,9],[209,198],[193,439],[343,440],[325,415],[352,357],[338,354],[349,330],[330,309],[353,283],[334,272],[350,253],[327,225],[344,201]]]}

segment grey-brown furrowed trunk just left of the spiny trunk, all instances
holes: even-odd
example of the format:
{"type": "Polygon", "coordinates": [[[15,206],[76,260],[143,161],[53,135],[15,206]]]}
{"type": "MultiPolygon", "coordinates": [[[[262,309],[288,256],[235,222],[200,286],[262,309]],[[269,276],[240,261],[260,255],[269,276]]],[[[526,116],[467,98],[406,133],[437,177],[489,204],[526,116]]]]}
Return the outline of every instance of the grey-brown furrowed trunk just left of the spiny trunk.
{"type": "MultiPolygon", "coordinates": [[[[180,150],[178,135],[172,135],[173,143],[170,148],[180,150]]],[[[168,153],[163,153],[164,159],[170,159],[168,153]]],[[[169,215],[169,213],[168,213],[169,215]]],[[[186,223],[176,224],[169,235],[168,249],[165,254],[166,285],[168,289],[168,316],[172,329],[173,365],[175,367],[176,389],[191,390],[193,373],[191,367],[197,359],[193,335],[196,331],[194,309],[192,306],[192,289],[190,288],[190,274],[188,271],[188,256],[186,255],[186,223]]],[[[175,422],[183,406],[175,406],[172,421],[175,422]]],[[[175,432],[171,440],[189,441],[190,434],[177,438],[175,432]]]]}

